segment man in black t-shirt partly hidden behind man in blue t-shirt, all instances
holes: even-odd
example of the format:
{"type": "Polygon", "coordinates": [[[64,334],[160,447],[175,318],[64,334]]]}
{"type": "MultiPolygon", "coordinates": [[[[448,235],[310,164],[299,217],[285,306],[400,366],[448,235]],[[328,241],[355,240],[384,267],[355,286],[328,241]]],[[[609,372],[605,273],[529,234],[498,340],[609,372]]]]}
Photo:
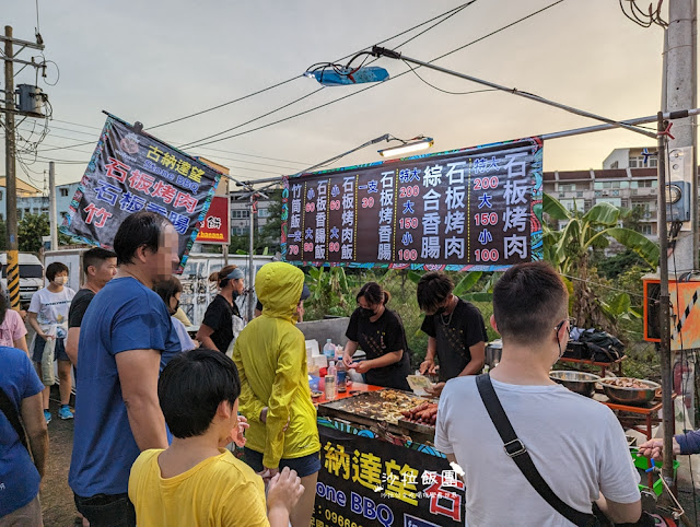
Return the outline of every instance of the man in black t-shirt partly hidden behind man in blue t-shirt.
{"type": "Polygon", "coordinates": [[[86,250],[83,255],[83,272],[85,283],[73,296],[68,311],[66,353],[73,367],[78,366],[78,340],[83,316],[95,295],[117,273],[117,255],[102,247],[86,250]]]}

